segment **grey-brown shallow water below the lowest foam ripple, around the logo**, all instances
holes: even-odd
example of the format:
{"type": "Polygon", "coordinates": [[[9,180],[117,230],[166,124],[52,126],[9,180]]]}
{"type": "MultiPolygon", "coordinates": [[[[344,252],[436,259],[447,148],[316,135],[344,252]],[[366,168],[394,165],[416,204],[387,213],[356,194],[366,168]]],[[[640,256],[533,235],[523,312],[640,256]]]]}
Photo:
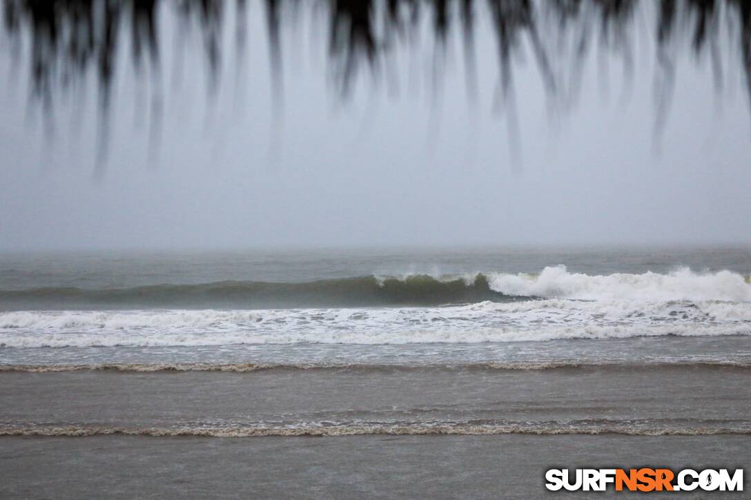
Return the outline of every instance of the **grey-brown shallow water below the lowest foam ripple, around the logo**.
{"type": "MultiPolygon", "coordinates": [[[[548,492],[548,468],[741,468],[749,436],[443,435],[2,439],[0,496],[85,498],[593,498],[548,492]],[[123,471],[127,471],[125,474],[123,471]]],[[[693,494],[692,494],[693,493],[693,494]]],[[[706,498],[706,492],[680,498],[706,498]]],[[[603,492],[598,496],[620,496],[603,492]]],[[[712,497],[743,498],[743,492],[712,497]]],[[[676,496],[676,495],[671,495],[676,496]]]]}

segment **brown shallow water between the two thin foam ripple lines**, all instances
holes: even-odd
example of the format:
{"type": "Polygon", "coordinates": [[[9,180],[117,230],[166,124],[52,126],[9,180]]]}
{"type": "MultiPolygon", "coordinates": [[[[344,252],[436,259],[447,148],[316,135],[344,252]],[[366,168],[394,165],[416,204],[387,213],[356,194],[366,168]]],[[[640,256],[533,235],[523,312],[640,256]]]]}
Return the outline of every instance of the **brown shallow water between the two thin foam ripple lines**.
{"type": "Polygon", "coordinates": [[[5,435],[751,434],[751,366],[285,366],[0,377],[5,435]]]}

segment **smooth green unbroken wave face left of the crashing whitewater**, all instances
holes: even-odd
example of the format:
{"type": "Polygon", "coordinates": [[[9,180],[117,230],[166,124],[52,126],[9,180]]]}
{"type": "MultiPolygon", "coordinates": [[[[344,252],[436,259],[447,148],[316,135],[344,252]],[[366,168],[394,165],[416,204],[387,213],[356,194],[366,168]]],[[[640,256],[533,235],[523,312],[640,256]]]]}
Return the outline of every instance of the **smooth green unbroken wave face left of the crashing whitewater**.
{"type": "MultiPolygon", "coordinates": [[[[483,300],[514,300],[490,289],[487,278],[478,274],[435,278],[413,275],[403,278],[362,276],[315,282],[213,282],[198,285],[151,285],[134,288],[35,288],[0,291],[0,304],[26,309],[71,309],[80,307],[113,309],[153,307],[270,307],[312,306],[437,306],[447,303],[475,303],[483,300]]],[[[6,307],[7,307],[6,306],[6,307]]]]}

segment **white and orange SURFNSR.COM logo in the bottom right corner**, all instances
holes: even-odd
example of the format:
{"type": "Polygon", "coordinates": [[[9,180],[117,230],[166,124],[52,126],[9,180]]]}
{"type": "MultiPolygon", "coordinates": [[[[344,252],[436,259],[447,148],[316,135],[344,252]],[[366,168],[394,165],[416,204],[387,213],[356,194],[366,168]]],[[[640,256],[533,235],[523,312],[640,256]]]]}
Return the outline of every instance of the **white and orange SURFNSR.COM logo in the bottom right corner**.
{"type": "Polygon", "coordinates": [[[551,491],[743,491],[743,469],[726,468],[695,471],[684,468],[577,468],[569,471],[551,468],[545,472],[545,487],[551,491]]]}

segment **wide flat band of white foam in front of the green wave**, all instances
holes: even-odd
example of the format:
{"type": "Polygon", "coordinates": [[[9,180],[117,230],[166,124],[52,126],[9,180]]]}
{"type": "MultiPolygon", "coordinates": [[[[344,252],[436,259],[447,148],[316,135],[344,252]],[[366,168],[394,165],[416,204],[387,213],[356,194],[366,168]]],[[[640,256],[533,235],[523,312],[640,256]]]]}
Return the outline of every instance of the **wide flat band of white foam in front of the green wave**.
{"type": "Polygon", "coordinates": [[[751,303],[548,299],[444,308],[0,313],[5,347],[408,344],[751,333],[751,303]]]}

